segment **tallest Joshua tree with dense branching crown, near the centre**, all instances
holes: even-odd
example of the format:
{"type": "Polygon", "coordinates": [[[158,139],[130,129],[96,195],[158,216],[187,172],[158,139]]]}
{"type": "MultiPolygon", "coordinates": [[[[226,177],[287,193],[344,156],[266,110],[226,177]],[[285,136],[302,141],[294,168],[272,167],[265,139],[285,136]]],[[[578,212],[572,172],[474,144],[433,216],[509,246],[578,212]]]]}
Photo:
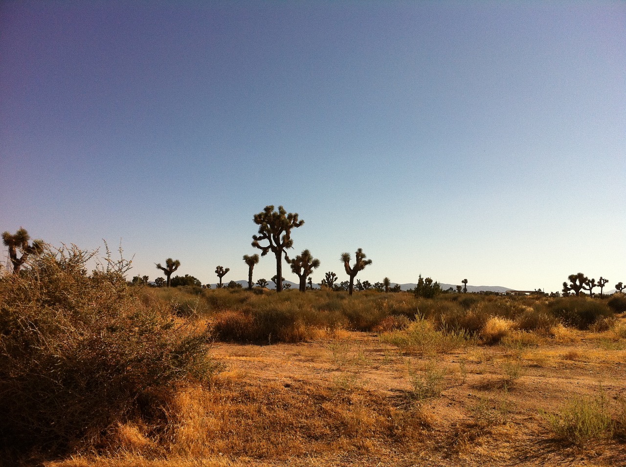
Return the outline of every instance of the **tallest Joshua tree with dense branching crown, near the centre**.
{"type": "Polygon", "coordinates": [[[276,291],[282,291],[282,253],[285,249],[292,248],[294,241],[291,239],[291,231],[300,227],[304,221],[298,219],[297,213],[289,213],[282,206],[274,211],[274,206],[265,206],[259,214],[254,214],[254,223],[259,226],[259,234],[252,236],[252,246],[261,250],[261,256],[272,251],[276,256],[276,291]],[[260,242],[267,241],[267,245],[260,242]]]}

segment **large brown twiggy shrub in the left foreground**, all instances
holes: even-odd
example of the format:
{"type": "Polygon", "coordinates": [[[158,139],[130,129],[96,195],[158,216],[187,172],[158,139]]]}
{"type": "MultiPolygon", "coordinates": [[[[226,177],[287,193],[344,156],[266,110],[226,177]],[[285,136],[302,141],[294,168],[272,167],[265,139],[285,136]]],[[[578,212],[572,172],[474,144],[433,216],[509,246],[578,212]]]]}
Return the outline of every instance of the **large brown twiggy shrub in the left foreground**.
{"type": "Polygon", "coordinates": [[[46,248],[0,284],[0,439],[63,450],[116,423],[158,417],[175,385],[210,378],[208,335],[146,308],[128,263],[46,248]]]}

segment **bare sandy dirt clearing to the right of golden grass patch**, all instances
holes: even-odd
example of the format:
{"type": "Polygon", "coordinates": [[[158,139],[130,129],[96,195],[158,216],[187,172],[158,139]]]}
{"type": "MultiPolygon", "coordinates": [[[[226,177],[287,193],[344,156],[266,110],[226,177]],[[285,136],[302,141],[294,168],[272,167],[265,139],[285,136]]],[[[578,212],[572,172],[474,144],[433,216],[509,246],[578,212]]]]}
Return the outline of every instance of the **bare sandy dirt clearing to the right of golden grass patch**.
{"type": "Polygon", "coordinates": [[[274,390],[339,388],[373,394],[399,410],[418,405],[427,421],[426,436],[414,449],[392,444],[360,453],[248,459],[252,464],[626,466],[626,444],[615,439],[563,443],[541,414],[555,413],[575,395],[603,393],[608,404],[626,396],[623,339],[582,331],[573,331],[571,338],[570,343],[477,345],[407,356],[375,334],[342,331],[301,344],[218,343],[212,353],[225,364],[225,378],[274,390]],[[445,369],[441,393],[415,401],[411,375],[425,381],[433,369],[445,369]]]}

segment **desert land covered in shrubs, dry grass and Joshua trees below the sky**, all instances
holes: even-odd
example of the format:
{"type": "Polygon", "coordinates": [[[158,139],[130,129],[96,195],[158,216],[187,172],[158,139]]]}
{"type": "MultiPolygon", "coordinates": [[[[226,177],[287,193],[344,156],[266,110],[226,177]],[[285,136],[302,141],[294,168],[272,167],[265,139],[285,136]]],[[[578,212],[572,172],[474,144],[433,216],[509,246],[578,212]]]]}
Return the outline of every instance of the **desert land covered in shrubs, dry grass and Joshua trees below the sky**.
{"type": "Polygon", "coordinates": [[[584,274],[571,296],[394,291],[354,283],[357,249],[350,281],[307,289],[305,249],[280,251],[299,290],[253,288],[258,255],[248,289],[171,258],[153,287],[121,251],[38,245],[0,279],[9,464],[626,464],[626,297],[584,274]]]}

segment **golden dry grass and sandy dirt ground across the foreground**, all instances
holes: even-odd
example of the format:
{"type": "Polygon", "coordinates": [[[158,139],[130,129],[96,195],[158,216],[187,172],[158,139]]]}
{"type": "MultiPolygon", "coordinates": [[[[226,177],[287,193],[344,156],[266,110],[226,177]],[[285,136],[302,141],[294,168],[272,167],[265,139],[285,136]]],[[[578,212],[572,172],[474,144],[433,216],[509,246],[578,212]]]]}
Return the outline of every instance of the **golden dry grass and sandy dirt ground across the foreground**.
{"type": "Polygon", "coordinates": [[[540,413],[558,415],[570,396],[601,386],[623,432],[626,351],[599,349],[587,331],[561,330],[563,342],[504,328],[501,344],[435,356],[348,331],[300,344],[215,344],[225,371],[211,388],[181,388],[165,431],[118,426],[108,454],[45,465],[626,465],[622,438],[567,443],[540,413]],[[435,369],[437,391],[416,398],[412,378],[427,381],[435,369]]]}

